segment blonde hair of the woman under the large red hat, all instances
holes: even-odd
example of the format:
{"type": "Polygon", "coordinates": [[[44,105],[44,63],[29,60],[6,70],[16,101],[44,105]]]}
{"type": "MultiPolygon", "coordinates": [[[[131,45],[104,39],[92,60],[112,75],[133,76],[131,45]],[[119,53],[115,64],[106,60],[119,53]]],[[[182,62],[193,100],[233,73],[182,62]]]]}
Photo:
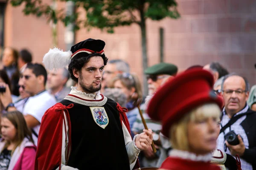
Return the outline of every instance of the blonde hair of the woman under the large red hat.
{"type": "Polygon", "coordinates": [[[189,150],[187,137],[188,122],[201,121],[209,117],[214,117],[219,120],[220,113],[221,110],[215,103],[204,104],[190,111],[190,113],[186,114],[186,116],[170,127],[169,139],[172,143],[172,147],[178,150],[189,150]]]}

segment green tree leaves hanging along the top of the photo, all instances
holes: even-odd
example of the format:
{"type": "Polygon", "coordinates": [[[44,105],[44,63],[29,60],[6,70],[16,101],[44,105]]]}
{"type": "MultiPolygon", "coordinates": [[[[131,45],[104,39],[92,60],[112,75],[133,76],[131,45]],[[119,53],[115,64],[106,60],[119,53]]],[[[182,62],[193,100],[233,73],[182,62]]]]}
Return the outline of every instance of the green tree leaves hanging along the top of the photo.
{"type": "MultiPolygon", "coordinates": [[[[67,1],[67,0],[61,0],[67,1]]],[[[137,23],[142,26],[145,19],[162,20],[165,17],[180,17],[175,0],[71,0],[76,8],[84,8],[86,16],[84,20],[78,20],[80,13],[75,15],[65,14],[65,10],[54,10],[50,4],[42,3],[41,0],[10,0],[12,6],[20,6],[25,3],[23,13],[25,15],[34,14],[37,17],[46,16],[48,21],[57,23],[61,21],[67,26],[74,23],[74,29],[92,27],[106,30],[113,33],[113,28],[117,26],[128,26],[137,23]],[[134,12],[139,11],[140,16],[134,12]]],[[[84,18],[84,17],[82,17],[84,18]]]]}

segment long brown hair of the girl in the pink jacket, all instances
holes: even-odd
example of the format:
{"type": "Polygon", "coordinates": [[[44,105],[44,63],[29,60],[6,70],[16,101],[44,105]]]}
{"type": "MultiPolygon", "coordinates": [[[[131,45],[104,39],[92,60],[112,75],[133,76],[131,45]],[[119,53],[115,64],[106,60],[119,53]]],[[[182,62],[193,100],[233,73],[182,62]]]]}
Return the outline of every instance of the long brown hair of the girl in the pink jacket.
{"type": "MultiPolygon", "coordinates": [[[[12,153],[21,144],[21,142],[23,141],[23,139],[25,137],[28,138],[29,141],[34,144],[34,140],[32,139],[31,131],[29,130],[28,126],[26,125],[26,121],[25,121],[25,118],[22,113],[20,113],[19,111],[7,112],[2,115],[2,119],[3,118],[8,119],[17,130],[17,134],[15,137],[15,146],[12,149],[12,153]]],[[[9,144],[10,144],[10,142],[6,141],[6,144],[4,145],[3,149],[7,148],[9,146],[9,144]]],[[[11,155],[12,155],[12,153],[11,153],[11,155]]]]}

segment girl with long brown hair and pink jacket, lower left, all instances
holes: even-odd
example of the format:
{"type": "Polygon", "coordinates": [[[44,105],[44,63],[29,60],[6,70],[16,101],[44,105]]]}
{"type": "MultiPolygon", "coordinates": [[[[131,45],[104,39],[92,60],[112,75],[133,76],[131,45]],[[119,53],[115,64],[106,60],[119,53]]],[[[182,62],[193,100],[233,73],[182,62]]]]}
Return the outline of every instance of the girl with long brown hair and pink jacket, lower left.
{"type": "Polygon", "coordinates": [[[19,111],[1,118],[0,170],[34,170],[36,146],[19,111]]]}

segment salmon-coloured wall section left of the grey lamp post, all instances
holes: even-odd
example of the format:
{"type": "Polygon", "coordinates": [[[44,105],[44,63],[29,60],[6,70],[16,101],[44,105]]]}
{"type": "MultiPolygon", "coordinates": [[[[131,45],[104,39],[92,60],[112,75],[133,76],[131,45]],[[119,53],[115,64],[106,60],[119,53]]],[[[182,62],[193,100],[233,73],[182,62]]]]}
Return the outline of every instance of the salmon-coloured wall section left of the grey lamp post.
{"type": "MultiPolygon", "coordinates": [[[[22,9],[23,6],[12,7],[10,4],[6,7],[4,46],[12,46],[18,50],[27,48],[32,52],[34,62],[42,62],[44,54],[53,47],[52,24],[47,23],[45,17],[24,16],[22,9]]],[[[60,23],[57,28],[58,47],[65,48],[64,26],[60,23]]]]}

